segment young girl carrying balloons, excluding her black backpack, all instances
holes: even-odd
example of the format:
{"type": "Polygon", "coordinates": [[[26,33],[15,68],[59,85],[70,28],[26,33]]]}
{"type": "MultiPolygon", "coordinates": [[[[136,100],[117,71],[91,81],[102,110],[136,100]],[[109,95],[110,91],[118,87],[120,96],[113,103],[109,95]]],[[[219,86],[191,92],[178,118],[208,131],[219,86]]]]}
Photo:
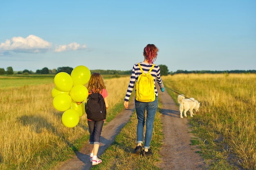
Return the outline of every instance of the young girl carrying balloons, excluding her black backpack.
{"type": "MultiPolygon", "coordinates": [[[[104,84],[103,78],[99,73],[93,73],[91,75],[91,78],[88,82],[88,91],[89,95],[91,94],[91,91],[94,93],[100,93],[103,96],[103,99],[106,104],[106,108],[108,109],[108,100],[107,96],[108,93],[106,91],[106,86],[104,84]]],[[[104,120],[100,121],[93,121],[88,119],[88,126],[89,126],[89,131],[90,131],[90,139],[89,139],[89,144],[90,144],[90,161],[92,162],[92,165],[98,165],[101,163],[101,159],[97,157],[98,150],[99,150],[99,140],[101,137],[101,130],[103,127],[104,120]]]]}

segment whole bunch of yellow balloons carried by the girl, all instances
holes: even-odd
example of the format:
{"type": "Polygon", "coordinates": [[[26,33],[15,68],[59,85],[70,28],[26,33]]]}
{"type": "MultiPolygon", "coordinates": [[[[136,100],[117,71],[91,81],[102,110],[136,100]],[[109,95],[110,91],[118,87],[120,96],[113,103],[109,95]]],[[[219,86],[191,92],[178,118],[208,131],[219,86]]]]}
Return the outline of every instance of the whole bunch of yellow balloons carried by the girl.
{"type": "Polygon", "coordinates": [[[85,84],[89,82],[90,77],[91,72],[86,66],[75,67],[71,75],[60,72],[54,77],[52,104],[56,110],[64,111],[61,120],[68,128],[75,127],[79,123],[79,118],[85,113],[84,101],[88,97],[85,84]]]}

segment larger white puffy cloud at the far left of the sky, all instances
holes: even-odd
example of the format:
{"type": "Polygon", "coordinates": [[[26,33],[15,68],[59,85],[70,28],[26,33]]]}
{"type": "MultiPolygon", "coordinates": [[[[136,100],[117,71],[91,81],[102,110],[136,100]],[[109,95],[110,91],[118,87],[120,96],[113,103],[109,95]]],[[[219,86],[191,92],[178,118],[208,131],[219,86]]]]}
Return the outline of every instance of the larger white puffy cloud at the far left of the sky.
{"type": "Polygon", "coordinates": [[[35,35],[27,38],[13,37],[0,44],[0,53],[13,51],[16,53],[43,53],[52,48],[52,43],[35,35]]]}

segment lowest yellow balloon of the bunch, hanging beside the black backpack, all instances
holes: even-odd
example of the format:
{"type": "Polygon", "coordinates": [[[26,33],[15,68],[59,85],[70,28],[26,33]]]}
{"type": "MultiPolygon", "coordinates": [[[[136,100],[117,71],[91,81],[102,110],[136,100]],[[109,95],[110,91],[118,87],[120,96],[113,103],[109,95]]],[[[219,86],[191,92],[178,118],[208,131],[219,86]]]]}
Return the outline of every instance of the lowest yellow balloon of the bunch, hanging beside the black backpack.
{"type": "Polygon", "coordinates": [[[68,109],[63,113],[61,121],[64,126],[73,128],[79,123],[79,115],[75,110],[68,109]]]}

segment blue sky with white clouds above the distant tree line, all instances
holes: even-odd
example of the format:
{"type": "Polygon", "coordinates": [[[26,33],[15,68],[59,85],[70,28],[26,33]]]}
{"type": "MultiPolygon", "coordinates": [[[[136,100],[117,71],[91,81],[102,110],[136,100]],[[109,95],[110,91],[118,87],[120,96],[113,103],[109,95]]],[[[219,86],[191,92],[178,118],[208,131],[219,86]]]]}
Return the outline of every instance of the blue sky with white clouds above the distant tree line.
{"type": "Polygon", "coordinates": [[[0,68],[131,70],[155,44],[177,70],[255,70],[255,0],[0,2],[0,68]]]}

